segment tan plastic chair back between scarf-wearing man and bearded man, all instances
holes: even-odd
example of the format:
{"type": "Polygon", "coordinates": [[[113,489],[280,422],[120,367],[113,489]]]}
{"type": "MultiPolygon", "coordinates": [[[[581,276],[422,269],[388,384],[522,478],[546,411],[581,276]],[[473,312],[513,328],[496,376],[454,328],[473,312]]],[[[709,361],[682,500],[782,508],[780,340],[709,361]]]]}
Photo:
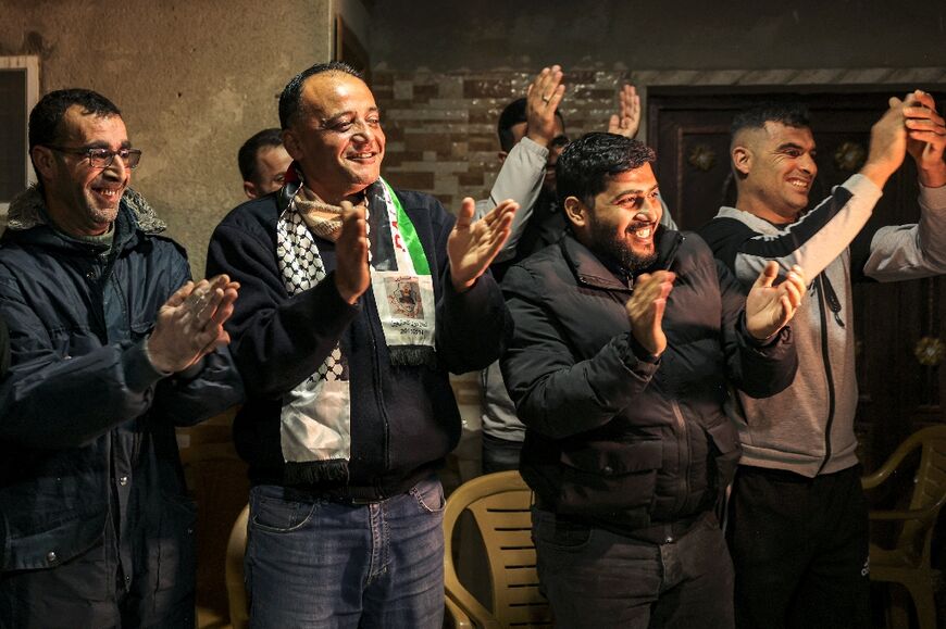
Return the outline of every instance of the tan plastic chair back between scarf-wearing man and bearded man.
{"type": "MultiPolygon", "coordinates": [[[[538,591],[531,504],[532,492],[519,473],[500,471],[460,486],[450,494],[444,512],[447,595],[461,606],[478,606],[480,613],[488,614],[460,583],[452,562],[453,528],[463,512],[469,512],[483,538],[493,580],[493,613],[486,617],[491,616],[501,627],[552,625],[548,601],[538,591]]],[[[471,616],[475,620],[477,614],[471,616]]]]}

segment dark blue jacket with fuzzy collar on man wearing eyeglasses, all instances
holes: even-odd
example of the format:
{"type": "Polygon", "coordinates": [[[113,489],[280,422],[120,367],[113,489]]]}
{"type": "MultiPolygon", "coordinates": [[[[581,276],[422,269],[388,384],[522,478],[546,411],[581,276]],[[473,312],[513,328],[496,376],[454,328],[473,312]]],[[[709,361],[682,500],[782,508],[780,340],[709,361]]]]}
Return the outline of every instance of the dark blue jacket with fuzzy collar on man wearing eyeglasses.
{"type": "Polygon", "coordinates": [[[187,375],[153,369],[142,341],[190,278],[187,259],[155,236],[163,224],[130,190],[114,229],[103,253],[52,229],[38,191],[11,206],[0,246],[12,349],[0,388],[0,567],[54,567],[117,526],[123,570],[147,575],[142,590],[160,597],[195,580],[174,427],[238,403],[242,386],[225,350],[187,375]]]}

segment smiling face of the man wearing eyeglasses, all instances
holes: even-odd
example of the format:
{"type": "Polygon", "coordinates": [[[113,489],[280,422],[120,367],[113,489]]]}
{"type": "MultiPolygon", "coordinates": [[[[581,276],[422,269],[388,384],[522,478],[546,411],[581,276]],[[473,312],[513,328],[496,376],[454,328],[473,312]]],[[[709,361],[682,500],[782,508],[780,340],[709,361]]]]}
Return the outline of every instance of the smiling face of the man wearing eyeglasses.
{"type": "MultiPolygon", "coordinates": [[[[129,148],[125,123],[117,115],[83,114],[72,105],[62,118],[59,146],[69,149],[129,148]]],[[[107,168],[95,168],[86,155],[33,149],[42,177],[46,205],[57,226],[73,236],[99,236],[119,214],[122,194],[132,181],[132,169],[115,156],[107,168]]]]}

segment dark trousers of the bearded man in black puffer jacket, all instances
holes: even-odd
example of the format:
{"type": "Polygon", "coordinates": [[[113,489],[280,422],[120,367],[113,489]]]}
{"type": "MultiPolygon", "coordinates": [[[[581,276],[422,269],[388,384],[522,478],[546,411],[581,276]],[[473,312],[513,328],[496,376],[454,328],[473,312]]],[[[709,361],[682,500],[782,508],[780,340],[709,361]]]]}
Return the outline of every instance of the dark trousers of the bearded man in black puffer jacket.
{"type": "Polygon", "coordinates": [[[556,626],[732,629],[733,563],[715,517],[655,544],[533,507],[538,578],[556,626]]]}

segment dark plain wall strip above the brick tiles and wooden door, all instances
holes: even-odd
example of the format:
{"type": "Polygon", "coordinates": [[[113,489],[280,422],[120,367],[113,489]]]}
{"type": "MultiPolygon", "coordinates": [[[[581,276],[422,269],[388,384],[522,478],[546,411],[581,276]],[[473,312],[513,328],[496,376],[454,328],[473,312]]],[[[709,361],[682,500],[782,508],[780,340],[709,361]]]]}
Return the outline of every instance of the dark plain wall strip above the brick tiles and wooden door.
{"type": "Polygon", "coordinates": [[[922,67],[946,56],[946,2],[377,1],[376,67],[922,67]]]}

